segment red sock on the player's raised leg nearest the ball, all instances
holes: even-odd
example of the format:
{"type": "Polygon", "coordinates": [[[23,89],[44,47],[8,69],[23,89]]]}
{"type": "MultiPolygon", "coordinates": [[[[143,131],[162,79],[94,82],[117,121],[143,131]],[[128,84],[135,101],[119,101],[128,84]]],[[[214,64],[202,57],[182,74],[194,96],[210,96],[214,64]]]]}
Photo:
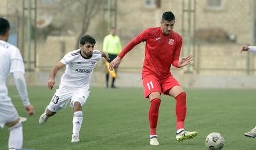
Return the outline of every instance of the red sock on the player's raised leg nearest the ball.
{"type": "Polygon", "coordinates": [[[184,128],[184,121],[186,117],[186,92],[180,93],[176,96],[176,117],[177,117],[177,130],[184,128]]]}

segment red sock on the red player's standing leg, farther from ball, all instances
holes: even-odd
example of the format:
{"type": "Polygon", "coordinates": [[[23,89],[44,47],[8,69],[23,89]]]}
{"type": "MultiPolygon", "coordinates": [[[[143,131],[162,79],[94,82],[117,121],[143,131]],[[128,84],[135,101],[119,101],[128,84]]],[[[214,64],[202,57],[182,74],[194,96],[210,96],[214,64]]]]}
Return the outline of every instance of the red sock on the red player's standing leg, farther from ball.
{"type": "Polygon", "coordinates": [[[157,135],[156,127],[157,127],[160,103],[161,103],[161,100],[159,98],[154,98],[152,101],[150,101],[150,108],[148,111],[150,135],[157,135]]]}

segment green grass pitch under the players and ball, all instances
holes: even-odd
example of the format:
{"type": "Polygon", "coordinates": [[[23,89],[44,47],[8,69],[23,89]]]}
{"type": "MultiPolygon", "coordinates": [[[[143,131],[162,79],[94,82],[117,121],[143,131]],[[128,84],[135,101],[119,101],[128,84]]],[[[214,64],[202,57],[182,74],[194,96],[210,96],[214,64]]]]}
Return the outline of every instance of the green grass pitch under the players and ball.
{"type": "MultiPolygon", "coordinates": [[[[36,114],[27,116],[15,87],[9,95],[23,123],[26,149],[206,149],[205,137],[220,132],[225,138],[223,149],[255,149],[255,139],[244,137],[255,124],[255,90],[252,89],[185,89],[188,94],[185,127],[198,131],[198,137],[184,142],[175,140],[175,100],[162,96],[157,133],[160,146],[148,145],[148,107],[142,88],[105,89],[92,87],[83,112],[81,142],[72,144],[72,109],[60,110],[44,125],[38,118],[55,90],[29,87],[29,98],[36,114]]],[[[8,149],[7,128],[0,129],[0,149],[8,149]]]]}

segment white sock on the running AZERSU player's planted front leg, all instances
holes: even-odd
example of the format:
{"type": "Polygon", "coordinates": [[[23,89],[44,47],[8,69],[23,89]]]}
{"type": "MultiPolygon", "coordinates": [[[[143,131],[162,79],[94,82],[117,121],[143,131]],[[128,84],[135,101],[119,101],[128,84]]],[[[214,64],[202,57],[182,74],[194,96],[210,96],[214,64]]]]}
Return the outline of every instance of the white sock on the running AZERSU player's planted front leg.
{"type": "Polygon", "coordinates": [[[83,123],[83,112],[82,111],[74,112],[73,135],[79,135],[82,123],[83,123]]]}

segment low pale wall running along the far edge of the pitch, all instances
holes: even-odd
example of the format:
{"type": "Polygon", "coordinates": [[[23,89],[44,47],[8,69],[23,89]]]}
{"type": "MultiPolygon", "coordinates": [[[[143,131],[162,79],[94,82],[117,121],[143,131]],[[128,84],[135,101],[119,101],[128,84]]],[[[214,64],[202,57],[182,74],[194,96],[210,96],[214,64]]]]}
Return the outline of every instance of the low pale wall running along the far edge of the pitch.
{"type": "MultiPolygon", "coordinates": [[[[60,77],[63,71],[56,76],[56,85],[60,84],[60,77]]],[[[184,73],[182,70],[173,70],[173,76],[179,80],[182,87],[190,88],[251,88],[256,89],[255,75],[196,75],[195,73],[184,73]]],[[[49,71],[33,71],[26,73],[26,82],[28,86],[45,86],[49,71]]],[[[13,77],[8,78],[8,85],[14,85],[13,77]]],[[[104,71],[93,71],[91,86],[104,87],[104,71]]],[[[116,79],[117,87],[142,87],[140,72],[120,72],[116,79]]]]}

